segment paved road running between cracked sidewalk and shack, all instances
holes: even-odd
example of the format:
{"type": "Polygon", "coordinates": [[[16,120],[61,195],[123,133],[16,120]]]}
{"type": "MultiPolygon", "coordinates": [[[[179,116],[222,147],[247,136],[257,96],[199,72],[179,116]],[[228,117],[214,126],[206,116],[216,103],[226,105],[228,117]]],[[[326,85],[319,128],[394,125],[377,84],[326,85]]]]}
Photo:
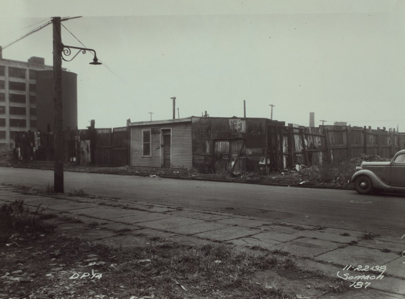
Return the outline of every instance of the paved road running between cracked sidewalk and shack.
{"type": "MultiPolygon", "coordinates": [[[[405,195],[355,191],[64,172],[65,192],[83,188],[97,196],[175,207],[224,211],[277,221],[405,234],[405,195]]],[[[53,185],[53,171],[0,168],[0,183],[53,185]]]]}

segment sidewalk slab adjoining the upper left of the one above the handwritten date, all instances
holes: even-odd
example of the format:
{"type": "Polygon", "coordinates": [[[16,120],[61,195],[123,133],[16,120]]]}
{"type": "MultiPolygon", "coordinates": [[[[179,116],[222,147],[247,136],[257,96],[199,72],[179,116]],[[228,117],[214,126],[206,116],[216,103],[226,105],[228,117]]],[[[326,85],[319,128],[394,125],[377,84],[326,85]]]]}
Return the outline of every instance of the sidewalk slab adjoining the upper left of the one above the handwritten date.
{"type": "Polygon", "coordinates": [[[286,243],[281,243],[271,248],[288,250],[296,256],[317,256],[330,250],[334,250],[338,246],[339,244],[330,241],[301,238],[286,243]]]}

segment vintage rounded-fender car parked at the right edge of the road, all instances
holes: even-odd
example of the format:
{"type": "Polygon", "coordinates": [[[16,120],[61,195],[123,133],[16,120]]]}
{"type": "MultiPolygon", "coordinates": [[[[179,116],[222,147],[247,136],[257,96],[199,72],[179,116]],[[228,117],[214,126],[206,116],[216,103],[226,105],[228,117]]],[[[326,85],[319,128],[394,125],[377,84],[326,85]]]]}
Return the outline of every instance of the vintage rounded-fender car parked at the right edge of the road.
{"type": "Polygon", "coordinates": [[[396,153],[390,162],[362,162],[351,181],[360,194],[405,191],[405,150],[396,153]]]}

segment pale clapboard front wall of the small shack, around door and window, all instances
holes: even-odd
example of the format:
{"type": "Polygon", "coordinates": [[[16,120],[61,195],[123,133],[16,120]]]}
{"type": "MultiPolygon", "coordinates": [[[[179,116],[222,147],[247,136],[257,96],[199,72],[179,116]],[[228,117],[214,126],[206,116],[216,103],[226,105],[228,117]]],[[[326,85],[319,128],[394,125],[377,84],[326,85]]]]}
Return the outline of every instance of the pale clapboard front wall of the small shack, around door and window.
{"type": "Polygon", "coordinates": [[[171,167],[192,168],[190,123],[142,125],[131,127],[131,166],[161,167],[160,129],[171,130],[171,167]],[[142,157],[142,130],[151,129],[151,157],[142,157]]]}

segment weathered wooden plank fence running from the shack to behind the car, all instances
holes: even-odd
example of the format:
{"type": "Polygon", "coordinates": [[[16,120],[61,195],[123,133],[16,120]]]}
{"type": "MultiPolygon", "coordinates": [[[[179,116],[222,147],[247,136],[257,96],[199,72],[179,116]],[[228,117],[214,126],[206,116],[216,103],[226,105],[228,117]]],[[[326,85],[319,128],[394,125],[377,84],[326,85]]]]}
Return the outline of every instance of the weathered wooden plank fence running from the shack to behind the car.
{"type": "Polygon", "coordinates": [[[347,161],[360,155],[379,155],[390,159],[405,148],[405,133],[395,129],[371,127],[319,126],[288,124],[283,128],[283,168],[303,163],[311,166],[323,162],[347,161]]]}

